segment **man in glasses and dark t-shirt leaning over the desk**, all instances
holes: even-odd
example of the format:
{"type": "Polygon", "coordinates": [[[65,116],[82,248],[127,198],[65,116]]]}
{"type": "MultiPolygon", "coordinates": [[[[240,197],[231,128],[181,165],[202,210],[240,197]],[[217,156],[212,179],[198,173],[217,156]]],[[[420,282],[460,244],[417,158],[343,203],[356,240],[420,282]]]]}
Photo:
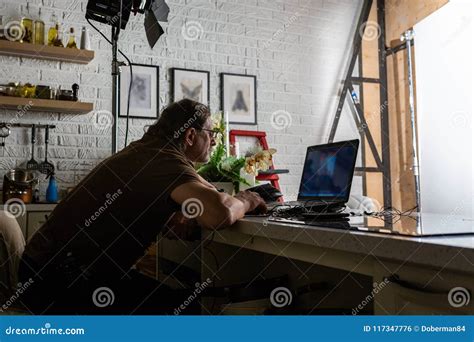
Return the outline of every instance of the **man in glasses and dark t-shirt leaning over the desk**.
{"type": "Polygon", "coordinates": [[[158,232],[165,225],[177,235],[198,225],[220,229],[266,210],[256,193],[217,192],[194,170],[193,162],[208,161],[216,134],[208,107],[181,100],[95,167],[26,246],[19,271],[21,282],[33,279],[20,297],[26,307],[36,314],[172,314],[189,291],[133,269],[158,232]]]}

